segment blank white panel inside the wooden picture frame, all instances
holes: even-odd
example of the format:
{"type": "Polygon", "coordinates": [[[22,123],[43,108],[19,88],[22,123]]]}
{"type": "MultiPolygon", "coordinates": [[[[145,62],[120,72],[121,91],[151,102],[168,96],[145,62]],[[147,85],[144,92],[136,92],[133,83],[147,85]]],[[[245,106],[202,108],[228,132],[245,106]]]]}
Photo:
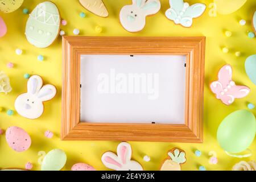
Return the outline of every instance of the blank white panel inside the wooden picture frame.
{"type": "Polygon", "coordinates": [[[185,60],[82,55],[81,122],[184,124],[185,60]]]}

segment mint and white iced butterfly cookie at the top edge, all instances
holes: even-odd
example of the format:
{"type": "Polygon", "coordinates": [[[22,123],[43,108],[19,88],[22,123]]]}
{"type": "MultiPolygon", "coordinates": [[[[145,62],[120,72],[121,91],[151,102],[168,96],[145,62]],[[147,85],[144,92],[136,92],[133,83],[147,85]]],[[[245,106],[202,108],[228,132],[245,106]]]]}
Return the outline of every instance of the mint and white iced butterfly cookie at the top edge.
{"type": "Polygon", "coordinates": [[[191,6],[183,0],[169,0],[169,3],[171,8],[166,11],[166,17],[183,27],[191,27],[193,18],[201,16],[206,9],[202,3],[191,6]]]}

